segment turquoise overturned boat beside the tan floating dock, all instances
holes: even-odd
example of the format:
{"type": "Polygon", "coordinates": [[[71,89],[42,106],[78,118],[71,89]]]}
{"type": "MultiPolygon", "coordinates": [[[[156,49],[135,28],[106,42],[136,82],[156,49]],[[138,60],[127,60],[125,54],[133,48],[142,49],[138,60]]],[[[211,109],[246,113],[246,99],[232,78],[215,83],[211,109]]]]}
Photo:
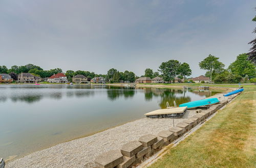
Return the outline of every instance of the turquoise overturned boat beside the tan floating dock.
{"type": "Polygon", "coordinates": [[[203,100],[197,100],[197,101],[183,103],[183,104],[180,104],[179,106],[180,107],[187,106],[187,108],[194,108],[194,107],[200,107],[200,106],[209,105],[209,104],[215,104],[215,103],[219,103],[219,102],[220,101],[218,100],[218,98],[209,98],[209,99],[203,99],[203,100]]]}

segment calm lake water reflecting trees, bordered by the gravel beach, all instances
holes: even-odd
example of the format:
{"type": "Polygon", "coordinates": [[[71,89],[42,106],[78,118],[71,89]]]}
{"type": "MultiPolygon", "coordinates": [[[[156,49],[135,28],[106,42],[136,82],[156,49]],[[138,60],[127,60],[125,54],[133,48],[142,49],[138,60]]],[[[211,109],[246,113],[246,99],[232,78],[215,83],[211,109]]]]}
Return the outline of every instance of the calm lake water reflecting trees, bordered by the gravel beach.
{"type": "Polygon", "coordinates": [[[87,85],[0,85],[0,157],[27,155],[220,91],[87,85]],[[172,105],[172,104],[170,104],[172,105]]]}

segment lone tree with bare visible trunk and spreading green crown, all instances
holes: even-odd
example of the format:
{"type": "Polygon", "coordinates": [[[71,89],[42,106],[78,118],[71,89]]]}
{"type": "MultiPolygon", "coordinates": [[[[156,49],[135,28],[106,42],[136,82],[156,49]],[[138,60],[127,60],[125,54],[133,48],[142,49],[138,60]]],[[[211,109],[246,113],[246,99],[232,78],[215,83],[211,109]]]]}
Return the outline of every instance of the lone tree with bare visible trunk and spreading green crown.
{"type": "Polygon", "coordinates": [[[223,69],[225,66],[223,63],[218,61],[219,58],[214,55],[209,54],[203,61],[199,63],[201,69],[208,70],[210,73],[210,82],[212,82],[212,71],[218,70],[220,68],[223,69]]]}

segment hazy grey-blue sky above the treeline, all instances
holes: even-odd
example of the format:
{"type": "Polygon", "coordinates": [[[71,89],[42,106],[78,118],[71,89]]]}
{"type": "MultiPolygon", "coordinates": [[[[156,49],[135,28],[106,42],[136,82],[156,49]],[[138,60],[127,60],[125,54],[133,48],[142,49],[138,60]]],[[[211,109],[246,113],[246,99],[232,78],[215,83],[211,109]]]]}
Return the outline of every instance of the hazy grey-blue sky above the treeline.
{"type": "Polygon", "coordinates": [[[227,68],[254,39],[256,1],[0,0],[0,65],[144,74],[209,54],[227,68]]]}

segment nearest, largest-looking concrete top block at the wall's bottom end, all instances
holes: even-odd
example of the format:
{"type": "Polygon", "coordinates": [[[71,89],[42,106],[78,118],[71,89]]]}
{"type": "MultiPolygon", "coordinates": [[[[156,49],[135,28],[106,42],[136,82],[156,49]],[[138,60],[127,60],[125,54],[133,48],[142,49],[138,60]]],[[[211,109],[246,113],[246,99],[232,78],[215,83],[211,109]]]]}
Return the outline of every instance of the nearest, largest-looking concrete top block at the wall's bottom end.
{"type": "Polygon", "coordinates": [[[120,150],[111,150],[100,154],[95,159],[96,167],[115,167],[123,162],[123,155],[120,150]]]}

